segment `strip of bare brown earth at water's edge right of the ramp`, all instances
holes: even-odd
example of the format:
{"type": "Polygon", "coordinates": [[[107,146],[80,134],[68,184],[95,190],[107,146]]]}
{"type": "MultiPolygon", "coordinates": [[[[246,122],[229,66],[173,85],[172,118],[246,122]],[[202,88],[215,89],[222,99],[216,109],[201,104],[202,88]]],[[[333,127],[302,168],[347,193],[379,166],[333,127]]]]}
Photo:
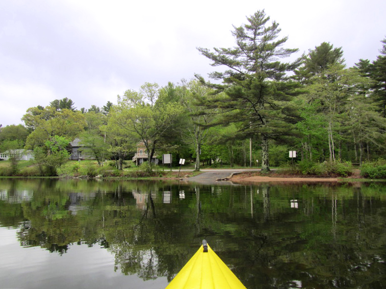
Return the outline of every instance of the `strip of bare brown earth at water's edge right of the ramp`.
{"type": "MultiPolygon", "coordinates": [[[[360,171],[355,170],[353,175],[349,178],[360,178],[360,171]]],[[[265,183],[265,182],[273,182],[273,183],[313,183],[313,182],[337,182],[338,180],[342,180],[344,178],[336,178],[336,177],[293,177],[293,176],[264,176],[259,172],[242,172],[240,174],[233,175],[231,181],[233,183],[265,183]]]]}

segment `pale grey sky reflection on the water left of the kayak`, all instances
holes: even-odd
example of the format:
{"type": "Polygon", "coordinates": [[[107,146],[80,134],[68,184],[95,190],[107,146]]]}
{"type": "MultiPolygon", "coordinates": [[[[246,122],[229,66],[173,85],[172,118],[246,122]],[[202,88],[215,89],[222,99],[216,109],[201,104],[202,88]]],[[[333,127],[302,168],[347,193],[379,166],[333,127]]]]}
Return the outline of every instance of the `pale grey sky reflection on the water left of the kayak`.
{"type": "Polygon", "coordinates": [[[136,275],[114,271],[114,256],[98,245],[70,245],[66,254],[40,247],[22,247],[17,229],[0,227],[1,288],[159,289],[164,277],[143,281],[136,275]]]}

